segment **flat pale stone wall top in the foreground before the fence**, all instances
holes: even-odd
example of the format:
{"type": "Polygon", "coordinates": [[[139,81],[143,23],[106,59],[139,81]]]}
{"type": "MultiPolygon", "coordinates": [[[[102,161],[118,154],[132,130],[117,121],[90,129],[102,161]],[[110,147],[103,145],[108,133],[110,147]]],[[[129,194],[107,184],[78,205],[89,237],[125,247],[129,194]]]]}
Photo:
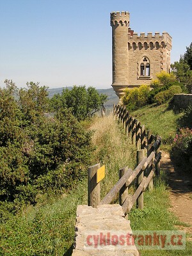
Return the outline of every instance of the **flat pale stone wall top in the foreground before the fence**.
{"type": "Polygon", "coordinates": [[[72,256],[138,256],[136,246],[121,246],[117,240],[126,234],[131,237],[132,230],[120,205],[78,205],[72,256]]]}

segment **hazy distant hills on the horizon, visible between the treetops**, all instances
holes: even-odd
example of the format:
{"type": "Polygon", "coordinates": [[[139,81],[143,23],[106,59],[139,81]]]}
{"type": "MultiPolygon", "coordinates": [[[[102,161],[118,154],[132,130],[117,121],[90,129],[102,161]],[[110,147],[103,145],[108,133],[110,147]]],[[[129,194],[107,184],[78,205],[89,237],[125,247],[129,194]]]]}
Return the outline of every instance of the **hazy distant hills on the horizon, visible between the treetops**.
{"type": "MultiPolygon", "coordinates": [[[[63,91],[63,88],[67,88],[68,90],[72,89],[72,86],[68,86],[68,87],[61,87],[61,88],[49,88],[49,97],[52,98],[54,94],[61,94],[63,91]]],[[[115,94],[115,91],[113,90],[113,88],[109,88],[109,89],[97,89],[97,92],[99,93],[103,93],[108,95],[108,101],[105,103],[106,108],[111,108],[113,106],[113,104],[118,104],[118,97],[115,94]]]]}

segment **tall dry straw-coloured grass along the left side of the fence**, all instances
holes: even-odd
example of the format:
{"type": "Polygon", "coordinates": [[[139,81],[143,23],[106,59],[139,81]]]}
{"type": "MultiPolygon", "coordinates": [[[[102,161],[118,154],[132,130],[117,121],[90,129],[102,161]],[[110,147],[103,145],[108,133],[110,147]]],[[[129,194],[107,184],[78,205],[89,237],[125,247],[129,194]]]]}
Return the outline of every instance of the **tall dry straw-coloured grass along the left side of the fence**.
{"type": "Polygon", "coordinates": [[[106,177],[102,180],[102,196],[108,193],[118,181],[118,171],[124,166],[134,168],[136,149],[122,133],[122,125],[114,122],[113,114],[104,118],[95,118],[92,131],[95,145],[94,163],[106,165],[106,177]]]}

